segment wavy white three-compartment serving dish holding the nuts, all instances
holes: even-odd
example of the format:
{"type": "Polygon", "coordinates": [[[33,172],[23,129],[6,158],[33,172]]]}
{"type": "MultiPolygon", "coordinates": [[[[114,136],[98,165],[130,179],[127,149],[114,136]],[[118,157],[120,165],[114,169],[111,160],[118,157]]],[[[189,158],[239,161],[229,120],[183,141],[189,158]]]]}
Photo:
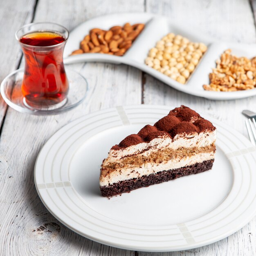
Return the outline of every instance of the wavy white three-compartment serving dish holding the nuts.
{"type": "Polygon", "coordinates": [[[213,92],[202,88],[202,85],[209,84],[209,73],[212,72],[212,68],[216,67],[216,60],[220,58],[220,55],[226,49],[231,49],[232,54],[237,56],[252,58],[256,56],[256,44],[218,42],[214,38],[200,33],[194,27],[189,28],[186,22],[185,20],[184,24],[176,24],[175,20],[171,18],[151,13],[117,13],[86,20],[71,31],[64,50],[64,63],[88,61],[124,63],[139,68],[176,90],[207,99],[231,100],[256,95],[256,89],[238,92],[213,92]],[[81,40],[89,33],[90,29],[95,27],[109,29],[114,25],[124,25],[126,22],[131,24],[145,23],[146,26],[124,56],[95,53],[70,56],[74,50],[79,49],[81,40]],[[185,85],[144,64],[149,49],[154,47],[158,40],[170,32],[185,36],[192,42],[202,42],[208,46],[207,52],[185,85]]]}

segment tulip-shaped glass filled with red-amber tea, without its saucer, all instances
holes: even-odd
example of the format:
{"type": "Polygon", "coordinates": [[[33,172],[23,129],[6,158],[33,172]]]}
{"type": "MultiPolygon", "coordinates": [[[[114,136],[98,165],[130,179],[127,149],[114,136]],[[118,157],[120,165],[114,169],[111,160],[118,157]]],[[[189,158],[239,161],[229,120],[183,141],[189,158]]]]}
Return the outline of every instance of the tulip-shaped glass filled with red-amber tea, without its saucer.
{"type": "Polygon", "coordinates": [[[65,27],[50,23],[31,23],[16,32],[25,56],[21,90],[24,103],[34,109],[54,109],[65,105],[69,82],[63,64],[68,38],[65,27]]]}

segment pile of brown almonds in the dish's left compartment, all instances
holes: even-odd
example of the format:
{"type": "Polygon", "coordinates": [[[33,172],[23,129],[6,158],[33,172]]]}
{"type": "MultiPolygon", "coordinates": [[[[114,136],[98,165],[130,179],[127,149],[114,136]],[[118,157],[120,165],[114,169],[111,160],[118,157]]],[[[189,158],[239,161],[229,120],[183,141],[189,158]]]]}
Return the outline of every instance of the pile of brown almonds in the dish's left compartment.
{"type": "Polygon", "coordinates": [[[114,26],[109,30],[91,29],[90,34],[81,41],[80,49],[75,50],[71,55],[97,52],[123,56],[143,29],[142,23],[135,25],[126,23],[123,27],[114,26]]]}

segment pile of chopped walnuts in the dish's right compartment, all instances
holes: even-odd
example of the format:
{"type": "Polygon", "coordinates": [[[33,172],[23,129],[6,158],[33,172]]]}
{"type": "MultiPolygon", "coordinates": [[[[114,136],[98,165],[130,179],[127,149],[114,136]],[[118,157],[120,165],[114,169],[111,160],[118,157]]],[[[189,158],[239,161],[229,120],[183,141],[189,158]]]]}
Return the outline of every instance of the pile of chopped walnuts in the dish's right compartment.
{"type": "Polygon", "coordinates": [[[236,57],[225,51],[216,61],[216,68],[209,74],[210,84],[204,90],[232,92],[256,88],[256,57],[236,57]]]}

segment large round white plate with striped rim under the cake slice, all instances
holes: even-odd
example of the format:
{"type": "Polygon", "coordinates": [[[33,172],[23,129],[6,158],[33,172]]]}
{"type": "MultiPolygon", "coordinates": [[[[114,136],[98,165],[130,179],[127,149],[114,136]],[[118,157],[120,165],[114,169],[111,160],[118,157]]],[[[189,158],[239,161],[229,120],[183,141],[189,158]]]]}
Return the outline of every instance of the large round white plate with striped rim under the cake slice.
{"type": "Polygon", "coordinates": [[[164,252],[200,247],[233,234],[256,213],[256,148],[217,127],[210,171],[105,198],[102,160],[114,144],[167,115],[167,106],[125,106],[81,117],[56,132],[35,165],[38,194],[65,226],[106,245],[164,252]]]}

